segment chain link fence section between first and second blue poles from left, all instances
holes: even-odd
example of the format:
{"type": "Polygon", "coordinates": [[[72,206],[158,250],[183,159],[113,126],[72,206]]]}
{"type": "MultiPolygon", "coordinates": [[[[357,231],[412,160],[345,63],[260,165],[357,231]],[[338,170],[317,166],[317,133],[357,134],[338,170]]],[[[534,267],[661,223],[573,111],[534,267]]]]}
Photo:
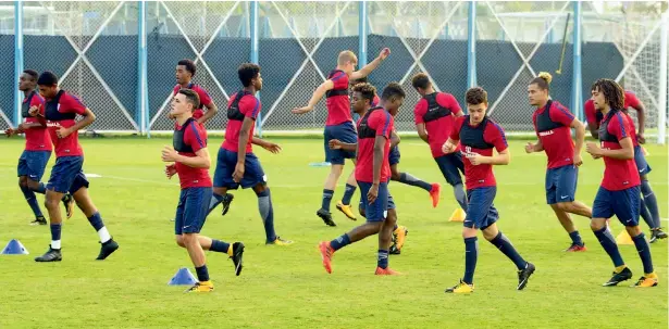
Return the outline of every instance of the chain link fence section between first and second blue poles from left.
{"type": "Polygon", "coordinates": [[[90,130],[137,131],[137,3],[24,2],[24,67],[52,71],[96,113],[90,130]]]}

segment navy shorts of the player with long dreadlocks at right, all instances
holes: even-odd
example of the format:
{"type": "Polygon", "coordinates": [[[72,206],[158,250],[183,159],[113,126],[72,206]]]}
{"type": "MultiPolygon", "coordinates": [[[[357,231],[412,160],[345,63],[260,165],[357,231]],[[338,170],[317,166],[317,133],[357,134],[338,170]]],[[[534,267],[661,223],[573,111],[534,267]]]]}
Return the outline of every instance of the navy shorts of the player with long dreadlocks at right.
{"type": "Polygon", "coordinates": [[[599,187],[593,203],[593,218],[611,218],[616,215],[622,225],[637,226],[640,202],[639,186],[620,191],[609,191],[599,187]]]}

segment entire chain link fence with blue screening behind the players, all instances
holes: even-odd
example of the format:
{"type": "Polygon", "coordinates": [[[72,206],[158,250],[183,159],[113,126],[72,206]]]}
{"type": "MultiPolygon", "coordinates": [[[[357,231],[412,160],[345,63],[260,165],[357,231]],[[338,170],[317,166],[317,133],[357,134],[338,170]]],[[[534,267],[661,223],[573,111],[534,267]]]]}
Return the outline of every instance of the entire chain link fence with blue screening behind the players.
{"type": "MultiPolygon", "coordinates": [[[[319,131],[325,100],[309,114],[313,90],[336,66],[342,50],[359,50],[359,1],[258,2],[259,63],[264,131],[319,131]]],[[[388,47],[393,53],[370,75],[379,90],[398,81],[408,94],[397,128],[413,131],[419,100],[411,77],[430,75],[435,88],[464,106],[469,2],[364,2],[368,62],[388,47]]],[[[526,85],[541,71],[553,74],[552,96],[570,106],[573,5],[568,1],[478,1],[476,79],[488,91],[490,113],[507,130],[532,131],[526,85]],[[571,15],[571,16],[569,16],[571,15]],[[565,42],[565,48],[562,47],[565,42]],[[563,55],[562,55],[563,51],[563,55]]],[[[24,67],[52,71],[64,89],[97,114],[96,130],[138,131],[138,2],[23,2],[24,67]]],[[[241,86],[237,67],[250,58],[248,1],[151,1],[146,3],[148,118],[152,131],[172,130],[165,107],[175,86],[178,60],[196,61],[194,83],[221,113],[208,125],[223,130],[228,97],[241,86]]],[[[582,3],[583,100],[597,78],[617,78],[647,109],[646,125],[657,127],[659,106],[659,23],[666,2],[582,3]]],[[[14,2],[0,1],[0,60],[13,66],[14,2]]],[[[14,77],[0,77],[15,90],[14,77]]],[[[0,98],[0,128],[13,121],[14,96],[0,98]]],[[[574,111],[575,109],[572,109],[574,111]]],[[[575,111],[574,111],[575,112],[575,111]]]]}

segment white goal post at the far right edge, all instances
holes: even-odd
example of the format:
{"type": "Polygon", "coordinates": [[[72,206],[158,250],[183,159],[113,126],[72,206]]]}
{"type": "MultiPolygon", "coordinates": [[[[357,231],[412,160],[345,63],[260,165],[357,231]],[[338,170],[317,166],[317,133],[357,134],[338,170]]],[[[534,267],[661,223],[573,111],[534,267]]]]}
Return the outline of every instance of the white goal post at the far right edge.
{"type": "Polygon", "coordinates": [[[659,33],[659,107],[657,111],[657,143],[665,144],[667,139],[667,106],[669,103],[667,102],[667,58],[669,56],[669,52],[667,48],[667,38],[669,35],[669,10],[662,13],[662,26],[659,33]]]}

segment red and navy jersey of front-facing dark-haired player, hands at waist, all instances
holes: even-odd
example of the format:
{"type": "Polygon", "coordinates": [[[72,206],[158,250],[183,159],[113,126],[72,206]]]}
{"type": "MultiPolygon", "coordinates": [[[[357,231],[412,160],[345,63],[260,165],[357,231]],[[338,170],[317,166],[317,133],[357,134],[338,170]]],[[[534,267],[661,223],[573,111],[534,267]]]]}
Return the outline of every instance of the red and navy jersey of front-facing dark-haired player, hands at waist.
{"type": "Polygon", "coordinates": [[[455,129],[450,132],[450,139],[460,141],[467,189],[496,186],[493,165],[472,165],[468,156],[474,154],[492,156],[493,149],[497,150],[497,153],[506,150],[508,143],[501,127],[487,117],[479,125],[472,126],[469,115],[464,115],[456,118],[455,129]]]}

